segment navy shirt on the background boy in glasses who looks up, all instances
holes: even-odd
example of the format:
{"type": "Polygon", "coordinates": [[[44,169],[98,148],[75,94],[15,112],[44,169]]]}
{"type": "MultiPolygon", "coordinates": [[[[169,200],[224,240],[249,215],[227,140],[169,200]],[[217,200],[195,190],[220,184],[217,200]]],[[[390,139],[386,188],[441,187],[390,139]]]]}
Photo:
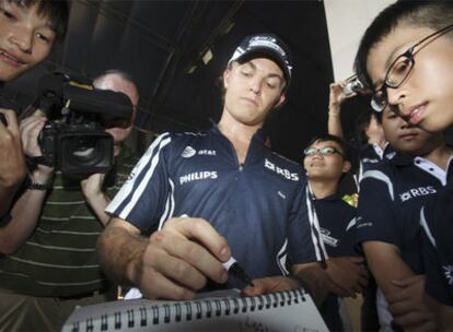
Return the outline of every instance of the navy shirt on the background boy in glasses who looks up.
{"type": "MultiPolygon", "coordinates": [[[[315,199],[321,238],[329,257],[357,256],[355,250],[357,209],[346,203],[339,194],[315,199]]],[[[339,315],[338,297],[328,295],[320,308],[330,331],[344,331],[339,315]]]]}

